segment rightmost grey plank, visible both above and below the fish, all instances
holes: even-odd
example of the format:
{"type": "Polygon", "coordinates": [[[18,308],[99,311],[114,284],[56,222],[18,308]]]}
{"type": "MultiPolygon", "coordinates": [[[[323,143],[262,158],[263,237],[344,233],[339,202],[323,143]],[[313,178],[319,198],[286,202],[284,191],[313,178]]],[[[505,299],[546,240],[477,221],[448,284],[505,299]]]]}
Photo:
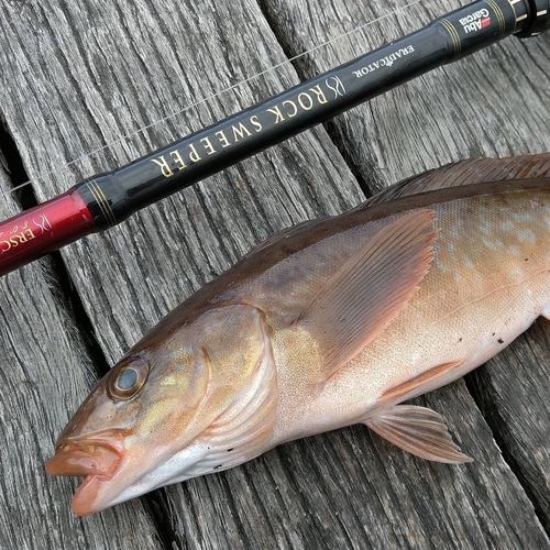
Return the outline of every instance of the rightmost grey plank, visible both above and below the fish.
{"type": "MultiPolygon", "coordinates": [[[[365,33],[339,40],[330,55],[298,61],[302,78],[327,70],[373,50],[463,2],[422,2],[397,18],[384,19],[365,33]],[[397,20],[397,21],[396,21],[397,20]],[[393,24],[396,22],[397,24],[393,24]]],[[[399,2],[333,4],[316,2],[314,18],[331,18],[340,24],[310,29],[300,16],[297,0],[264,0],[264,11],[287,55],[348,32],[351,22],[376,20],[399,2]],[[287,32],[277,21],[295,21],[287,32]]],[[[519,41],[515,37],[413,80],[330,122],[331,135],[345,151],[354,174],[371,191],[426,168],[479,156],[507,156],[550,151],[548,88],[539,86],[550,70],[550,36],[519,41]]],[[[547,532],[550,529],[550,484],[547,437],[548,340],[540,328],[521,337],[470,384],[483,403],[494,436],[532,497],[547,532]],[[518,361],[522,369],[518,372],[518,361]],[[521,392],[518,394],[518,378],[521,392]],[[479,382],[479,384],[476,384],[479,382]],[[514,396],[514,399],[510,397],[514,396]]]]}

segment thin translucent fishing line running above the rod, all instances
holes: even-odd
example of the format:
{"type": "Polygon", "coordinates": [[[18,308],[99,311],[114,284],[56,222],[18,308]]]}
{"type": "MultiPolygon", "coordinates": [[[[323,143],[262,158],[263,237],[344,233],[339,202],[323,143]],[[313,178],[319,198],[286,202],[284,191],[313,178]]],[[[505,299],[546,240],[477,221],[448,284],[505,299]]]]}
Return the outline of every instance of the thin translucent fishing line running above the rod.
{"type": "Polygon", "coordinates": [[[74,158],[73,161],[69,161],[68,163],[66,163],[66,164],[64,164],[62,166],[58,166],[57,168],[53,168],[53,169],[51,169],[48,172],[45,172],[41,176],[38,176],[37,178],[29,179],[28,182],[19,184],[18,186],[12,187],[11,189],[9,189],[7,191],[1,193],[0,197],[7,197],[7,196],[9,196],[9,195],[11,195],[11,194],[13,194],[13,193],[22,189],[23,187],[26,187],[28,185],[32,185],[33,183],[37,183],[40,179],[43,179],[44,177],[51,176],[53,174],[56,174],[59,170],[59,168],[68,168],[70,166],[74,166],[74,165],[76,165],[76,164],[85,161],[86,158],[89,158],[89,157],[91,157],[94,155],[97,155],[97,154],[99,154],[99,153],[101,153],[101,152],[103,152],[103,151],[106,151],[106,150],[108,150],[108,148],[110,148],[110,147],[112,147],[114,145],[118,145],[118,144],[120,144],[120,143],[127,141],[127,140],[129,140],[130,138],[134,138],[134,136],[136,136],[136,135],[139,135],[139,134],[141,134],[143,132],[146,132],[147,130],[156,127],[157,124],[161,124],[163,122],[167,122],[167,121],[174,119],[175,117],[178,117],[178,116],[180,116],[180,114],[189,111],[190,109],[194,109],[194,108],[199,107],[201,105],[205,105],[205,103],[207,103],[209,101],[212,101],[212,100],[219,98],[220,96],[222,96],[222,95],[224,95],[224,94],[227,94],[227,92],[229,92],[229,91],[231,91],[233,89],[237,89],[240,86],[243,86],[244,84],[251,82],[252,80],[255,80],[255,79],[257,79],[257,78],[260,78],[260,77],[262,77],[264,75],[267,75],[267,74],[270,74],[270,73],[272,73],[272,72],[274,72],[274,70],[276,70],[276,69],[278,69],[280,67],[284,67],[285,65],[289,65],[293,62],[295,62],[295,61],[297,61],[297,59],[299,59],[299,58],[301,58],[301,57],[304,57],[306,55],[309,55],[309,54],[311,54],[314,52],[317,52],[318,50],[327,47],[328,45],[330,45],[330,44],[332,44],[334,42],[338,42],[338,41],[340,41],[342,38],[345,38],[346,36],[350,36],[350,35],[352,35],[352,34],[354,34],[356,32],[360,32],[363,29],[372,26],[375,23],[380,23],[381,21],[383,21],[383,20],[385,20],[385,19],[387,19],[387,18],[389,18],[392,15],[396,15],[399,12],[408,10],[409,8],[411,8],[413,6],[415,6],[417,3],[420,3],[421,1],[422,0],[413,0],[411,2],[405,4],[405,6],[400,7],[400,8],[396,8],[395,10],[392,10],[391,12],[385,13],[384,15],[381,15],[380,18],[376,18],[376,19],[373,19],[371,21],[367,21],[366,23],[363,23],[362,25],[356,26],[356,28],[352,29],[351,31],[348,31],[345,33],[339,34],[338,36],[334,36],[333,38],[330,38],[330,40],[328,40],[328,41],[326,41],[326,42],[323,42],[321,44],[318,44],[317,46],[314,46],[312,48],[307,50],[306,52],[302,52],[301,54],[295,55],[294,57],[289,57],[288,59],[285,59],[284,62],[280,62],[277,65],[274,65],[274,66],[272,66],[270,68],[266,68],[265,70],[256,73],[256,74],[250,76],[249,78],[245,78],[244,80],[240,80],[239,82],[233,84],[232,86],[228,86],[227,88],[223,88],[220,91],[217,91],[215,94],[211,94],[210,96],[201,98],[201,99],[195,101],[194,103],[190,103],[187,107],[184,107],[179,111],[175,111],[172,114],[168,114],[167,117],[164,117],[164,118],[161,118],[158,120],[155,120],[151,124],[142,127],[142,128],[140,128],[140,129],[138,129],[138,130],[135,130],[133,132],[130,132],[130,133],[128,133],[125,135],[122,135],[121,138],[118,138],[117,140],[113,140],[113,141],[111,141],[109,143],[106,143],[105,145],[102,145],[102,146],[100,146],[100,147],[98,147],[98,148],[96,148],[94,151],[90,151],[89,153],[87,153],[85,155],[81,155],[81,156],[79,156],[77,158],[74,158]]]}

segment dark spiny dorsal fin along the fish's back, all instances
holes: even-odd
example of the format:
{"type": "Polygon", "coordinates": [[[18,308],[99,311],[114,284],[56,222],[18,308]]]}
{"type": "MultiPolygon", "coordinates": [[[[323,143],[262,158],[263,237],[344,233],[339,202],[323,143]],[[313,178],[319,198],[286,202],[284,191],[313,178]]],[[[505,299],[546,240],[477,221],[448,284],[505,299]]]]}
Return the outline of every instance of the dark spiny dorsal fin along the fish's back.
{"type": "Polygon", "coordinates": [[[432,191],[444,187],[501,182],[503,179],[528,179],[550,177],[550,153],[508,156],[505,158],[473,158],[447,164],[417,176],[411,176],[366,199],[356,210],[408,195],[432,191]]]}

